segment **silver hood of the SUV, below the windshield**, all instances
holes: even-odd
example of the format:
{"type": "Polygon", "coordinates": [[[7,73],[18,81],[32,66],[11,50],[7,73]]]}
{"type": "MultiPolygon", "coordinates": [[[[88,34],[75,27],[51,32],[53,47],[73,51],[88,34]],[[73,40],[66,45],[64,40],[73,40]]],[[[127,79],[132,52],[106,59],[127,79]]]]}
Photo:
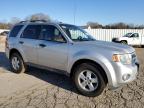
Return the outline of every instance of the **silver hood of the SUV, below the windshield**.
{"type": "Polygon", "coordinates": [[[116,51],[119,52],[120,54],[135,52],[135,49],[128,45],[122,45],[113,42],[86,41],[86,42],[78,42],[78,44],[82,46],[86,46],[88,48],[99,48],[99,49],[101,48],[102,50],[116,51]]]}

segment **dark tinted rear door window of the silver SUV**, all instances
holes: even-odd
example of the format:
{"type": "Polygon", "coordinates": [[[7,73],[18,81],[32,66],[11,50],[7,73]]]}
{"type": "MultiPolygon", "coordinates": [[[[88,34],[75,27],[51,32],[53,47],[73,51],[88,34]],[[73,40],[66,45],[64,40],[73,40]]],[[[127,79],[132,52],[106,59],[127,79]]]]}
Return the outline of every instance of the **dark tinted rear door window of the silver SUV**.
{"type": "Polygon", "coordinates": [[[22,34],[22,38],[38,39],[41,32],[40,25],[29,25],[22,34]]]}

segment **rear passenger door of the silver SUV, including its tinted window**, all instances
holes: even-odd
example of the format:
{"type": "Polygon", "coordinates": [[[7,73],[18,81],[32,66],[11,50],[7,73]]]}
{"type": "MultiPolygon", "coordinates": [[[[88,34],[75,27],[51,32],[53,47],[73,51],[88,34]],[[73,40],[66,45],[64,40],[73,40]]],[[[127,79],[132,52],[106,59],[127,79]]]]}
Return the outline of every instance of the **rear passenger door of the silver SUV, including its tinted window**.
{"type": "Polygon", "coordinates": [[[41,25],[28,25],[19,39],[19,47],[29,63],[37,64],[37,44],[41,33],[41,25]]]}

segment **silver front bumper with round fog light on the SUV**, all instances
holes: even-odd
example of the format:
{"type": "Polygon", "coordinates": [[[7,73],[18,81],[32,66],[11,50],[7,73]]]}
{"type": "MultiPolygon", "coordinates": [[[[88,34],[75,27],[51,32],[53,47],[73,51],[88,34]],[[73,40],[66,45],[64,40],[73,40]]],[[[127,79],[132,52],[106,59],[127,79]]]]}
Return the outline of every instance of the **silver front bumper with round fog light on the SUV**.
{"type": "Polygon", "coordinates": [[[140,67],[138,62],[133,65],[122,65],[121,63],[115,63],[113,65],[115,70],[115,80],[110,84],[110,89],[117,89],[137,78],[140,67]]]}

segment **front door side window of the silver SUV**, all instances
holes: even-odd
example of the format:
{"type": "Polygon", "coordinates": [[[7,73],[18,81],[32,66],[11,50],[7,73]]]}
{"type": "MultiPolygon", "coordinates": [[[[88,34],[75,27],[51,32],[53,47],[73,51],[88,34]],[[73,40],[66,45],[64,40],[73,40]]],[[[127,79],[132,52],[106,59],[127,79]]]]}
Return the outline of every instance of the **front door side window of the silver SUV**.
{"type": "Polygon", "coordinates": [[[65,42],[61,32],[55,26],[51,25],[44,25],[42,27],[42,39],[48,41],[65,42]]]}

